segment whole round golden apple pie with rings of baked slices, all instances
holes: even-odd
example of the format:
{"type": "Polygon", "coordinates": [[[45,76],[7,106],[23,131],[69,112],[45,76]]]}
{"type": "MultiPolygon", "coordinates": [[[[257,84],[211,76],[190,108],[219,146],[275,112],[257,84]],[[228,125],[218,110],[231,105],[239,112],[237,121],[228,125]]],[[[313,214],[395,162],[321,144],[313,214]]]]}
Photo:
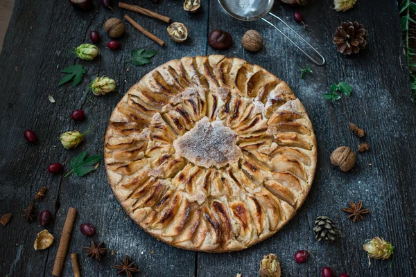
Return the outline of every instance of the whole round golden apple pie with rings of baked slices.
{"type": "Polygon", "coordinates": [[[105,166],[126,213],[158,240],[236,251],[295,215],[316,141],[275,75],[235,57],[183,57],[150,71],[115,107],[105,166]]]}

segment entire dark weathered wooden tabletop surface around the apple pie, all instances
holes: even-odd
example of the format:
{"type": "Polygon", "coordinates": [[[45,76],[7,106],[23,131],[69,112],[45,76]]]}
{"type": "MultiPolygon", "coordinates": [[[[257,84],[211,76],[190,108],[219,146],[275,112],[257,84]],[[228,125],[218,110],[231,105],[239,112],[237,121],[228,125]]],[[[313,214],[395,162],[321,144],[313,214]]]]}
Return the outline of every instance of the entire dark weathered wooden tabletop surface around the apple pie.
{"type": "MultiPolygon", "coordinates": [[[[137,276],[256,276],[263,255],[275,253],[281,261],[283,276],[320,276],[329,266],[336,276],[416,276],[416,120],[408,72],[401,42],[397,1],[358,0],[348,12],[332,10],[331,0],[310,0],[299,8],[307,28],[295,24],[293,8],[275,4],[273,11],[287,20],[317,46],[327,58],[325,66],[314,66],[291,44],[262,21],[242,22],[221,10],[217,0],[202,0],[193,15],[182,10],[182,0],[126,1],[169,15],[190,28],[190,39],[175,44],[166,34],[166,24],[134,12],[96,6],[91,12],[73,10],[67,1],[17,0],[0,55],[0,215],[12,213],[7,226],[0,225],[0,276],[51,276],[60,234],[69,207],[78,211],[64,276],[72,276],[70,253],[78,253],[83,276],[114,276],[112,265],[127,254],[137,262],[137,276]],[[103,23],[110,17],[130,15],[147,30],[166,41],[161,48],[126,22],[119,51],[110,51],[103,23]],[[359,21],[369,32],[368,47],[354,57],[336,53],[331,35],[342,21],[359,21]],[[228,30],[234,45],[228,51],[207,46],[207,34],[216,28],[228,30]],[[261,31],[265,46],[259,53],[248,53],[239,40],[250,28],[261,31]],[[89,42],[89,32],[103,36],[98,46],[101,55],[94,62],[79,60],[62,48],[89,42]],[[128,62],[134,48],[159,50],[152,64],[136,67],[128,62]],[[107,184],[105,168],[85,177],[51,175],[49,163],[67,161],[79,152],[103,154],[103,134],[112,109],[125,91],[155,66],[185,55],[221,53],[241,57],[286,80],[302,100],[311,117],[318,141],[318,168],[311,193],[297,215],[272,238],[236,253],[196,253],[175,249],[145,233],[124,213],[107,184]],[[83,64],[87,75],[83,83],[57,87],[60,70],[70,64],[83,64]],[[313,74],[300,79],[300,69],[310,64],[313,74]],[[85,87],[97,75],[109,75],[118,84],[116,93],[89,102],[85,87]],[[322,98],[334,82],[349,82],[353,94],[332,103],[322,98]],[[52,95],[56,102],[49,102],[52,95]],[[82,108],[87,119],[69,119],[74,109],[82,108]],[[343,173],[331,166],[329,155],[340,145],[354,149],[360,140],[348,130],[354,122],[367,131],[370,152],[358,155],[352,172],[343,173]],[[86,142],[76,150],[64,150],[58,136],[71,129],[85,131],[94,125],[86,142]],[[26,143],[24,129],[33,129],[39,138],[26,143]],[[24,222],[21,214],[42,186],[49,192],[37,202],[42,210],[53,212],[47,229],[55,236],[52,247],[35,251],[33,242],[43,228],[24,222]],[[353,223],[340,209],[348,200],[363,200],[371,214],[353,223]],[[339,226],[341,238],[333,244],[313,238],[313,221],[328,215],[339,226]],[[94,241],[105,241],[110,252],[101,262],[85,258],[83,246],[89,239],[79,225],[90,222],[98,229],[94,241]],[[361,245],[367,238],[380,235],[395,245],[395,259],[372,260],[369,267],[361,245]],[[298,249],[313,250],[306,264],[296,264],[298,249]]],[[[362,139],[361,141],[365,141],[362,139]]]]}

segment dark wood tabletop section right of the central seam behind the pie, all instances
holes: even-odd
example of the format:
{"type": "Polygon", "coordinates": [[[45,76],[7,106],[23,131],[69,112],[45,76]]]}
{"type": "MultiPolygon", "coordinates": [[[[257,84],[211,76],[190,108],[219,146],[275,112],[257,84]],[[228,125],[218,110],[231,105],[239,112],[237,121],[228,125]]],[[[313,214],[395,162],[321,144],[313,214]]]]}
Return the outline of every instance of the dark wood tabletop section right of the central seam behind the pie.
{"type": "MultiPolygon", "coordinates": [[[[320,276],[322,267],[332,267],[335,276],[415,276],[408,257],[415,256],[415,107],[411,100],[408,73],[396,1],[358,1],[348,12],[331,10],[332,1],[309,1],[304,8],[293,9],[278,3],[274,11],[327,57],[327,65],[318,67],[262,21],[241,22],[210,2],[209,30],[220,28],[233,34],[234,46],[225,53],[259,64],[291,85],[311,117],[318,141],[318,170],[311,193],[297,215],[276,235],[245,251],[228,254],[198,253],[198,276],[254,276],[263,255],[275,253],[281,260],[283,276],[320,276]],[[293,21],[300,10],[308,27],[293,21]],[[370,33],[367,50],[356,57],[336,53],[331,42],[340,22],[357,20],[370,33]],[[245,30],[259,30],[265,39],[260,53],[248,53],[240,46],[245,30]],[[311,64],[313,74],[300,80],[300,69],[311,64]],[[334,82],[352,84],[352,97],[327,102],[322,93],[334,82]],[[358,156],[352,172],[335,170],[329,163],[332,150],[340,145],[354,149],[359,140],[348,130],[352,121],[367,132],[372,150],[358,156]],[[371,163],[372,166],[367,166],[371,163]],[[372,211],[364,222],[347,220],[340,208],[349,199],[363,200],[372,211]],[[328,215],[337,222],[342,237],[333,244],[313,238],[313,221],[328,215]],[[395,260],[372,260],[361,250],[365,239],[381,235],[395,244],[395,260]],[[298,265],[293,254],[298,249],[313,249],[306,265],[298,265]]],[[[278,24],[281,26],[281,24],[278,24]]]]}

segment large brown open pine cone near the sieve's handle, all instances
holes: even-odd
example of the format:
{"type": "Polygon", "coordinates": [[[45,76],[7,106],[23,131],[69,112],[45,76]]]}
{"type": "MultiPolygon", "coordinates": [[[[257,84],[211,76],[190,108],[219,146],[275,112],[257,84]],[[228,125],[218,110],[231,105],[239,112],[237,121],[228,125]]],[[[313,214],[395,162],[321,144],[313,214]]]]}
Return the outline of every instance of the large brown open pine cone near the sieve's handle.
{"type": "Polygon", "coordinates": [[[367,45],[368,32],[364,29],[363,24],[358,22],[343,22],[340,27],[336,28],[333,35],[333,43],[336,44],[336,50],[344,55],[358,53],[360,49],[367,45]]]}

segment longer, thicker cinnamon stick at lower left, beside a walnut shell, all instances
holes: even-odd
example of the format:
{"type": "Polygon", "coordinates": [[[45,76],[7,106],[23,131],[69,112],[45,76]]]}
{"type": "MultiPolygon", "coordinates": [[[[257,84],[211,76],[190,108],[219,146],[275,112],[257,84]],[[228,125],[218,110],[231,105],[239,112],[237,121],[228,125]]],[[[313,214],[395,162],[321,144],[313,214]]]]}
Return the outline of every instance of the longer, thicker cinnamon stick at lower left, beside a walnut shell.
{"type": "Polygon", "coordinates": [[[64,229],[62,230],[61,239],[59,242],[58,252],[56,252],[55,264],[53,265],[52,275],[60,276],[67,258],[67,251],[69,247],[69,240],[71,239],[73,222],[75,222],[76,209],[69,208],[67,219],[65,220],[64,229]]]}

